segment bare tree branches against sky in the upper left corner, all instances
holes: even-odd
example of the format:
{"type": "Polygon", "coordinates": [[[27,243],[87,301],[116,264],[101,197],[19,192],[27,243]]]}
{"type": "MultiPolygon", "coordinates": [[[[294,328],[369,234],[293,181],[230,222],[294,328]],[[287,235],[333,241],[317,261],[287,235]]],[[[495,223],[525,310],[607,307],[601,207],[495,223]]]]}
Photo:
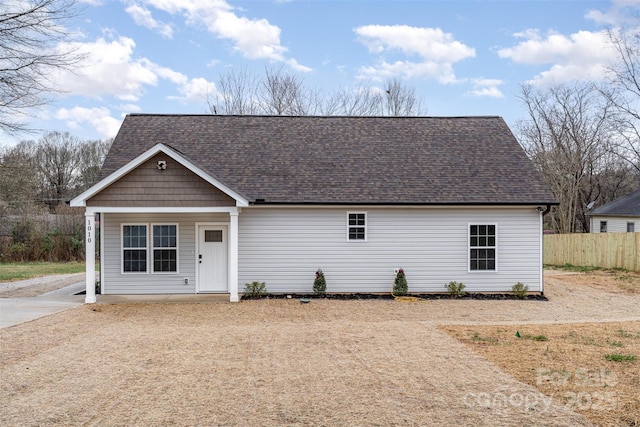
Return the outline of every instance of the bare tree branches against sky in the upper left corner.
{"type": "Polygon", "coordinates": [[[3,0],[0,4],[0,130],[27,130],[18,119],[55,92],[54,69],[69,69],[79,57],[62,51],[65,24],[75,16],[75,0],[3,0]]]}

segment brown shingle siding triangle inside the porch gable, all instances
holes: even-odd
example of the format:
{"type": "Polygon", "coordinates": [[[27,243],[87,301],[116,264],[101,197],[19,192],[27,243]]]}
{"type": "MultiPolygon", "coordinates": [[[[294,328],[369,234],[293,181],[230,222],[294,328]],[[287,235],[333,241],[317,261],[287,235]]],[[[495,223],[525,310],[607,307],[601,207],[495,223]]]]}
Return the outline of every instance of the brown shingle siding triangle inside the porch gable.
{"type": "Polygon", "coordinates": [[[158,154],[87,201],[87,206],[235,206],[222,191],[164,154],[158,154]],[[158,160],[167,169],[157,169],[158,160]]]}

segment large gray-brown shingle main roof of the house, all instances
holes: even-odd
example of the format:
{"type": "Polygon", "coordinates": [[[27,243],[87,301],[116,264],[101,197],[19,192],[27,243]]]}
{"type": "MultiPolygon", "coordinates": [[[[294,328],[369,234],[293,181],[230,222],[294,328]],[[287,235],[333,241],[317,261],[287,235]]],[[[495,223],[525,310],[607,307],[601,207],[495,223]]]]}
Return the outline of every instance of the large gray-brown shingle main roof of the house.
{"type": "Polygon", "coordinates": [[[250,202],[555,204],[500,117],[132,114],[101,177],[157,143],[250,202]]]}

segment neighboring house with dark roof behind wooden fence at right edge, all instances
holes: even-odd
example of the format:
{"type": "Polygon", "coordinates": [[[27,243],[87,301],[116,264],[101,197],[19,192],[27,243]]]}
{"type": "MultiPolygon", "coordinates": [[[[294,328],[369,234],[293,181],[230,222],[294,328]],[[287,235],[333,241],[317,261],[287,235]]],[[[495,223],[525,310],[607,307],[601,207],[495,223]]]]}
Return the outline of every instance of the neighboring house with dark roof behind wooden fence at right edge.
{"type": "Polygon", "coordinates": [[[592,233],[640,232],[640,190],[588,212],[592,233]]]}

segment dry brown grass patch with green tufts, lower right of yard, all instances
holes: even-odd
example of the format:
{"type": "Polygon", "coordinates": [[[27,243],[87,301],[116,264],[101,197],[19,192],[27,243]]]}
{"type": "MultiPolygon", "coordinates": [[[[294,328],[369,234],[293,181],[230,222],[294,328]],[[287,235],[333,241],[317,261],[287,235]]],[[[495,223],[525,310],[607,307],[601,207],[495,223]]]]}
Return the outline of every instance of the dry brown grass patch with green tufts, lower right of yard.
{"type": "Polygon", "coordinates": [[[595,425],[640,426],[640,321],[441,329],[595,425]],[[532,340],[548,342],[534,345],[532,340]],[[479,341],[508,343],[509,348],[479,341]]]}

